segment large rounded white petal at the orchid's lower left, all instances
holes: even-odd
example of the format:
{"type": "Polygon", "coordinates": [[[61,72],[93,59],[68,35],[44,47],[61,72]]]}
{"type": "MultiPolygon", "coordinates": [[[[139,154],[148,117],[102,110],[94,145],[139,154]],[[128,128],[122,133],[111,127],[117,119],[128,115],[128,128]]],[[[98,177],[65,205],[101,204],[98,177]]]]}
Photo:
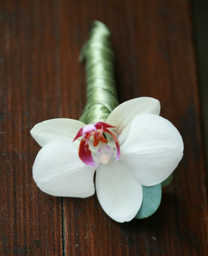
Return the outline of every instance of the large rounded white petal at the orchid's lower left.
{"type": "Polygon", "coordinates": [[[70,140],[54,139],[37,154],[33,179],[53,196],[89,197],[95,192],[95,167],[85,165],[70,140]]]}

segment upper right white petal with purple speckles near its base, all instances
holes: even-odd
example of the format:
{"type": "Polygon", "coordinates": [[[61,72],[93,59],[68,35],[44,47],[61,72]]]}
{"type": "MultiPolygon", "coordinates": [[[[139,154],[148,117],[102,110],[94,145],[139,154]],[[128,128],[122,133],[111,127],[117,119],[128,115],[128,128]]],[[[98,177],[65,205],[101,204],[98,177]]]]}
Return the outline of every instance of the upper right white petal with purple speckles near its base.
{"type": "MultiPolygon", "coordinates": [[[[141,113],[159,115],[160,103],[150,97],[140,97],[123,102],[116,107],[106,120],[107,124],[118,127],[114,130],[119,137],[120,146],[126,140],[133,118],[141,113]]],[[[107,138],[109,139],[109,137],[107,138]]]]}

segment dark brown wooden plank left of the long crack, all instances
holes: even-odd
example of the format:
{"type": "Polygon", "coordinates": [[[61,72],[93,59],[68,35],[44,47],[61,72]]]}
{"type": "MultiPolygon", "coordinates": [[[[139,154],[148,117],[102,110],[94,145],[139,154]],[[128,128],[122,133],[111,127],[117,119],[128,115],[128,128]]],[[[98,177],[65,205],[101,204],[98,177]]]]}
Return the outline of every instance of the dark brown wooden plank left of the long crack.
{"type": "Polygon", "coordinates": [[[61,199],[37,188],[29,131],[57,117],[55,7],[1,1],[0,255],[61,255],[61,199]]]}

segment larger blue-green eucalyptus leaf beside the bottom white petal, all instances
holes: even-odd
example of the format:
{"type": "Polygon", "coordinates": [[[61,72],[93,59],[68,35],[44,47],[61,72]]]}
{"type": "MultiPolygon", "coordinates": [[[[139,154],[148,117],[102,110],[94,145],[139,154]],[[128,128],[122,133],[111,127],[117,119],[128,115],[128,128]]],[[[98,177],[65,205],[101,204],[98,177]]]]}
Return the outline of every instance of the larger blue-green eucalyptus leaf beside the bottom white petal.
{"type": "Polygon", "coordinates": [[[142,189],[143,200],[139,212],[135,216],[137,219],[147,218],[155,213],[162,197],[161,184],[151,187],[142,186],[142,189]]]}

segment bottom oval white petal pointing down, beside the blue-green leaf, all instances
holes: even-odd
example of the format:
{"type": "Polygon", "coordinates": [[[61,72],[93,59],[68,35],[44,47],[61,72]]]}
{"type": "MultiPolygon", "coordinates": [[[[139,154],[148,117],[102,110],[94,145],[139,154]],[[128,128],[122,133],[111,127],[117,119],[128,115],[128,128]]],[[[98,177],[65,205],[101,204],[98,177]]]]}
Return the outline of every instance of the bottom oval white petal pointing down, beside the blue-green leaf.
{"type": "Polygon", "coordinates": [[[136,216],[142,203],[142,186],[125,163],[112,159],[107,165],[100,164],[95,184],[99,203],[113,220],[130,221],[136,216]]]}

